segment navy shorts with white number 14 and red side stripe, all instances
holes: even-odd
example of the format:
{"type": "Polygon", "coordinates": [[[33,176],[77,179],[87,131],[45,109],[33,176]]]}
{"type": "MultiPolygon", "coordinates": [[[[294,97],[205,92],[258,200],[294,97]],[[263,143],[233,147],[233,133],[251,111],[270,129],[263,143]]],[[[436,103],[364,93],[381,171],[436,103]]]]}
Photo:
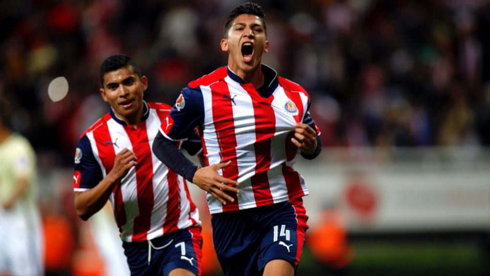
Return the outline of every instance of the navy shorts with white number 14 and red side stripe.
{"type": "Polygon", "coordinates": [[[290,262],[296,270],[307,220],[302,198],[213,214],[213,243],[224,274],[262,275],[275,259],[290,262]]]}

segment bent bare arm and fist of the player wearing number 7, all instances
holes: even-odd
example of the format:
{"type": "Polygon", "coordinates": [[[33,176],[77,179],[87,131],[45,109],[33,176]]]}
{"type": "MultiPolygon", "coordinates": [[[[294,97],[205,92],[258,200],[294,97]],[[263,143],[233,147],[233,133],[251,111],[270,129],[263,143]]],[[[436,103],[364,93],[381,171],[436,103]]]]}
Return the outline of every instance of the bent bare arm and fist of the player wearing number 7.
{"type": "Polygon", "coordinates": [[[81,219],[87,220],[97,213],[109,199],[114,186],[121,182],[129,169],[136,165],[136,156],[127,148],[116,155],[112,170],[90,190],[75,192],[75,209],[81,219]]]}

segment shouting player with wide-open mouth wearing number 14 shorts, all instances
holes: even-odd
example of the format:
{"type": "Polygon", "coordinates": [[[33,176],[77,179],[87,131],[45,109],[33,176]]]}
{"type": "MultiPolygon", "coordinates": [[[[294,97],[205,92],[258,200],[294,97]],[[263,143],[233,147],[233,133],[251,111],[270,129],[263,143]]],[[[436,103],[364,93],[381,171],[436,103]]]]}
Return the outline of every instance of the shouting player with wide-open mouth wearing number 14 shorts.
{"type": "Polygon", "coordinates": [[[259,5],[245,3],[230,13],[221,49],[228,52],[228,67],[182,90],[153,151],[208,192],[213,242],[225,275],[293,276],[308,229],[302,202],[308,188],[293,164],[298,149],[307,159],[321,150],[310,98],[262,64],[269,41],[259,5]],[[203,168],[173,146],[196,126],[208,164],[203,168]]]}

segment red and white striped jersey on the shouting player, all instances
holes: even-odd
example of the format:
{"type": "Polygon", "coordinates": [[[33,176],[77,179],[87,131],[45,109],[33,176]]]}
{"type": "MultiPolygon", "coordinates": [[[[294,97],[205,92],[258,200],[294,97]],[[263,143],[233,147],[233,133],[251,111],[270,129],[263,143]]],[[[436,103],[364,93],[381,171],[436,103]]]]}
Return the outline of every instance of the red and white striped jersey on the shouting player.
{"type": "Polygon", "coordinates": [[[209,211],[260,207],[308,194],[304,179],[293,168],[298,148],[291,142],[294,124],[317,131],[310,117],[308,93],[262,65],[265,84],[257,92],[223,67],[189,83],[178,96],[160,132],[183,140],[198,126],[208,164],[232,161],[219,173],[240,183],[235,202],[222,204],[207,195],[209,211]]]}

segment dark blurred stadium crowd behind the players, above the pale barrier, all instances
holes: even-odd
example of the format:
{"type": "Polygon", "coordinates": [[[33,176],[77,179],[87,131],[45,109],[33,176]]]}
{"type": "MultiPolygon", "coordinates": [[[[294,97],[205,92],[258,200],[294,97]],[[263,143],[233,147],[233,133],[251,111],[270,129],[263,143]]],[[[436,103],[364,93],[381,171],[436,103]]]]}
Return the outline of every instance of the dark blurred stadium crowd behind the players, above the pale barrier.
{"type": "MultiPolygon", "coordinates": [[[[81,131],[107,111],[98,68],[133,57],[147,100],[172,103],[223,66],[237,0],[16,0],[0,4],[0,94],[40,159],[71,166],[81,131]],[[50,80],[68,96],[52,102],[50,80]]],[[[490,145],[487,0],[262,0],[269,64],[304,86],[327,146],[490,145]]]]}

